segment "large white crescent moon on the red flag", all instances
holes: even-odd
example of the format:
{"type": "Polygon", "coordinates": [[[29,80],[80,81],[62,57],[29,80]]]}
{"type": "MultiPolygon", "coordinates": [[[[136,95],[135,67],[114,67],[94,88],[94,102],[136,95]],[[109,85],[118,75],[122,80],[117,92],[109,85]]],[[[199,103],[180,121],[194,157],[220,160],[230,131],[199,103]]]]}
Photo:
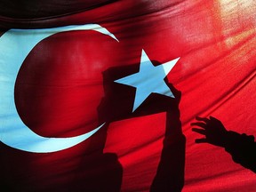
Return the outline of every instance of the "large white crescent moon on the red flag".
{"type": "Polygon", "coordinates": [[[23,61],[40,41],[53,34],[73,30],[95,30],[116,36],[97,24],[46,29],[11,29],[0,37],[0,140],[7,146],[34,153],[49,153],[71,148],[88,139],[103,124],[71,138],[45,138],[32,132],[20,119],[14,103],[14,85],[23,61]]]}

